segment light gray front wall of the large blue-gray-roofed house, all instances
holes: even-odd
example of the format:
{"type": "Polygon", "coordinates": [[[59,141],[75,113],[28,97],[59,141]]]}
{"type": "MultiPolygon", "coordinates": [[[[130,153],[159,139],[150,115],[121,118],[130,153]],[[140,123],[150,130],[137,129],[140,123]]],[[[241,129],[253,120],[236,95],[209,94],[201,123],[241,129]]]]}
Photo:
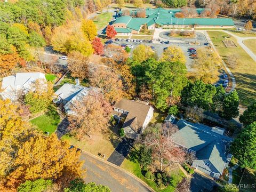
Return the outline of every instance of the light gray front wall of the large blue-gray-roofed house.
{"type": "Polygon", "coordinates": [[[192,166],[199,171],[209,174],[212,178],[218,179],[220,177],[220,173],[212,164],[210,167],[204,165],[206,161],[209,162],[208,160],[195,160],[192,166]]]}

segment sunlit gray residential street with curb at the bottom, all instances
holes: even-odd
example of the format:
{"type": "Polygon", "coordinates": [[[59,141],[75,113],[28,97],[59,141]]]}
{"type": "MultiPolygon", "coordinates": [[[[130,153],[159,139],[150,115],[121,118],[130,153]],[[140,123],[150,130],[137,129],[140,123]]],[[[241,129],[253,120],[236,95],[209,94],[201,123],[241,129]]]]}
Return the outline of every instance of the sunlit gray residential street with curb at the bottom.
{"type": "Polygon", "coordinates": [[[142,182],[117,167],[110,165],[91,155],[82,153],[86,170],[85,182],[95,182],[108,186],[112,192],[146,192],[151,191],[142,182]]]}

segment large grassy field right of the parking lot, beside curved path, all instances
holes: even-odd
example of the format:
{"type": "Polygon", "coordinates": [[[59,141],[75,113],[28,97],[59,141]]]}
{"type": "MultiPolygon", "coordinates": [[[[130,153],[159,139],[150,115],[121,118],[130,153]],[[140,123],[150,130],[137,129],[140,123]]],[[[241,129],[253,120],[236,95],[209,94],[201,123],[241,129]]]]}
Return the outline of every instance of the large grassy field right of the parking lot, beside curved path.
{"type": "Polygon", "coordinates": [[[207,32],[222,59],[228,64],[229,69],[235,76],[240,104],[249,106],[256,98],[256,62],[239,46],[234,37],[230,38],[237,45],[237,48],[227,48],[222,42],[228,36],[225,32],[207,32]],[[237,57],[239,62],[231,68],[229,59],[234,57],[237,57]]]}

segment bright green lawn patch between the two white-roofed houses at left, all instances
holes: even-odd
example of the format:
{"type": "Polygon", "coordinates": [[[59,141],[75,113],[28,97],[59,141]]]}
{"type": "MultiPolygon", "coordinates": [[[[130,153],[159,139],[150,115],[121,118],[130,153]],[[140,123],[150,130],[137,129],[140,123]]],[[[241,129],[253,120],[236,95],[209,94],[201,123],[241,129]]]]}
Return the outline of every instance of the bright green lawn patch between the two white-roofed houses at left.
{"type": "Polygon", "coordinates": [[[43,132],[49,132],[49,134],[52,134],[60,123],[60,116],[54,107],[50,107],[45,114],[32,119],[30,123],[37,126],[43,132]]]}

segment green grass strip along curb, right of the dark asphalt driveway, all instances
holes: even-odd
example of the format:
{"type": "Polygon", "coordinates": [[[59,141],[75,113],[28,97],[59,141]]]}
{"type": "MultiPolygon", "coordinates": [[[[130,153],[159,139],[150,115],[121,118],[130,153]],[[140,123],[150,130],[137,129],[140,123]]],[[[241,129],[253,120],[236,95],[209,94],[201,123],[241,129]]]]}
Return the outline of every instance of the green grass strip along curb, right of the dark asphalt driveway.
{"type": "Polygon", "coordinates": [[[139,163],[135,161],[130,161],[129,159],[124,159],[124,162],[122,163],[121,167],[132,174],[134,174],[136,177],[140,178],[142,181],[145,181],[151,188],[153,188],[157,192],[172,192],[175,190],[174,186],[177,186],[178,182],[181,181],[182,178],[185,177],[185,174],[180,170],[173,170],[172,172],[172,181],[169,186],[167,186],[165,189],[158,189],[156,183],[153,180],[149,180],[145,178],[140,169],[139,163]]]}

